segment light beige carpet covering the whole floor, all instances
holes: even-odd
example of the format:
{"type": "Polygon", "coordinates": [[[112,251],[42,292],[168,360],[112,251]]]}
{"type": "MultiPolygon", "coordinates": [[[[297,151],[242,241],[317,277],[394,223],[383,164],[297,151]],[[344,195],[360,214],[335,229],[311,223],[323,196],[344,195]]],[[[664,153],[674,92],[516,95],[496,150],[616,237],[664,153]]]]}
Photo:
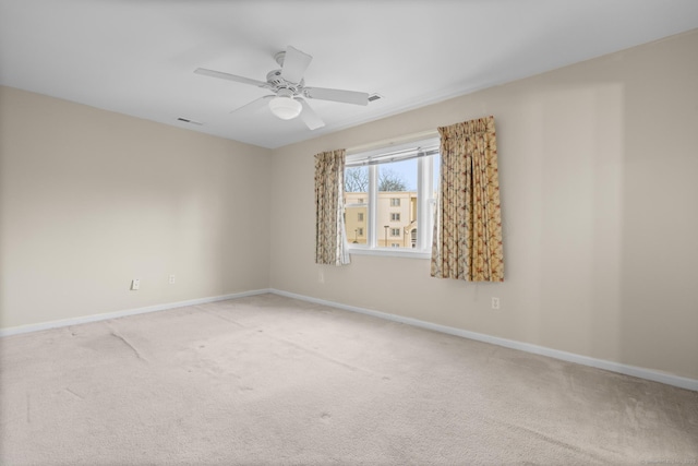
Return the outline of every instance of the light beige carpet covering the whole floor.
{"type": "Polygon", "coordinates": [[[698,464],[698,393],[276,295],[0,339],[2,465],[698,464]]]}

